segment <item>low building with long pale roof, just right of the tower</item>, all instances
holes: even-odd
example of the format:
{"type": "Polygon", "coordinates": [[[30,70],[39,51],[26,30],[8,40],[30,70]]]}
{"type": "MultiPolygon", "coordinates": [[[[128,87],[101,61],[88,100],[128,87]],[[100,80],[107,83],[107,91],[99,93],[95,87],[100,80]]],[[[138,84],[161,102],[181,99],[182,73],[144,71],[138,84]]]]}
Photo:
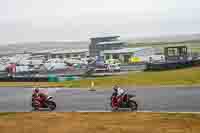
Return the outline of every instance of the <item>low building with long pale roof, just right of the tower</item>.
{"type": "Polygon", "coordinates": [[[140,48],[122,48],[117,50],[104,50],[101,52],[104,60],[118,59],[122,63],[129,63],[130,59],[135,60],[137,58],[148,58],[149,56],[155,55],[156,49],[152,47],[140,47],[140,48]]]}

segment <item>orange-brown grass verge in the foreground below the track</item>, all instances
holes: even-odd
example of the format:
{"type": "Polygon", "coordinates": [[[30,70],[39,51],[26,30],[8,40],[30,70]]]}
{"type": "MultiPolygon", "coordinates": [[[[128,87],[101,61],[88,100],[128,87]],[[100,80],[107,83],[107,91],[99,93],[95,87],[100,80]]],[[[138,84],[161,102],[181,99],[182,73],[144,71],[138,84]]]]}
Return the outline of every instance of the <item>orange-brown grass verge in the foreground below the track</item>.
{"type": "Polygon", "coordinates": [[[1,133],[199,133],[199,124],[199,114],[176,113],[38,112],[0,119],[1,133]]]}

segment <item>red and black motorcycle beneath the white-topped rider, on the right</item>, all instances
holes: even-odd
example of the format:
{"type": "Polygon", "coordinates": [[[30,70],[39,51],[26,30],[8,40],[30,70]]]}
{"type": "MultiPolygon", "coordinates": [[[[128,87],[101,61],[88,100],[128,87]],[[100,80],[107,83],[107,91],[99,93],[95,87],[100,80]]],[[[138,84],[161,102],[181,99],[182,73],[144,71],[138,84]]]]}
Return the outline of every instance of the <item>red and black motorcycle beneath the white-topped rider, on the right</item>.
{"type": "Polygon", "coordinates": [[[114,92],[110,97],[110,106],[113,111],[117,111],[119,109],[131,109],[131,111],[135,111],[138,109],[138,104],[134,100],[136,95],[127,94],[126,92],[120,97],[122,98],[121,102],[118,104],[117,94],[114,92]],[[117,101],[116,101],[117,100],[117,101]],[[117,104],[117,106],[116,106],[117,104]]]}

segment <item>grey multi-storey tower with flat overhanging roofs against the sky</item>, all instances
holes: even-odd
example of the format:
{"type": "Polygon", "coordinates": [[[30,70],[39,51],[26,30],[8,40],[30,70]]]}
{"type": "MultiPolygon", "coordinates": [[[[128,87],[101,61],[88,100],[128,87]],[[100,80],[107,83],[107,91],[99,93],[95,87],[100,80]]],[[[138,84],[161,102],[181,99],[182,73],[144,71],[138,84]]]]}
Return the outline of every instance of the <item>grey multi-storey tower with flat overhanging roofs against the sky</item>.
{"type": "Polygon", "coordinates": [[[102,56],[101,51],[121,49],[125,47],[125,43],[119,40],[119,36],[95,37],[90,38],[89,45],[90,57],[102,56]]]}

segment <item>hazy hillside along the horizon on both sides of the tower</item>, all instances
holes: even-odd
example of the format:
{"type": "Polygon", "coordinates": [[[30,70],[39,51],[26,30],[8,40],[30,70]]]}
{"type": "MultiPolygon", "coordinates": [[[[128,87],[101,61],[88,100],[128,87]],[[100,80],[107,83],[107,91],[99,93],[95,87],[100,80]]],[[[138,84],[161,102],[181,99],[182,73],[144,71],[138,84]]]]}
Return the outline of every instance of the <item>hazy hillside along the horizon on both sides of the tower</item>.
{"type": "MultiPolygon", "coordinates": [[[[130,47],[140,46],[160,46],[167,44],[191,44],[192,46],[199,47],[200,34],[189,35],[174,35],[174,36],[160,36],[160,37],[143,37],[143,38],[123,38],[123,41],[127,42],[130,47]]],[[[15,43],[8,45],[0,45],[0,55],[21,53],[24,51],[39,51],[46,49],[80,49],[88,48],[88,41],[45,41],[45,42],[27,42],[27,43],[15,43]]]]}

